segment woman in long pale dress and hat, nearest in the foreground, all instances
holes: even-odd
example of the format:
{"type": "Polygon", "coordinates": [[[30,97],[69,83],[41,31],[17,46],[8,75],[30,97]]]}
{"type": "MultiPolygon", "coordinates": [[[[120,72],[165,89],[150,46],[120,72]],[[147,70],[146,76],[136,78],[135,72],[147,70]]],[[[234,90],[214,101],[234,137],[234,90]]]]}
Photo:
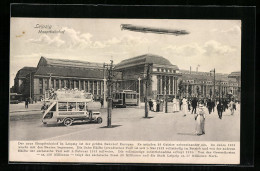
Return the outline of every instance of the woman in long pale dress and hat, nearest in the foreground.
{"type": "Polygon", "coordinates": [[[199,105],[199,109],[197,114],[195,115],[195,121],[196,121],[196,134],[197,135],[203,135],[205,134],[205,111],[202,104],[199,105]]]}

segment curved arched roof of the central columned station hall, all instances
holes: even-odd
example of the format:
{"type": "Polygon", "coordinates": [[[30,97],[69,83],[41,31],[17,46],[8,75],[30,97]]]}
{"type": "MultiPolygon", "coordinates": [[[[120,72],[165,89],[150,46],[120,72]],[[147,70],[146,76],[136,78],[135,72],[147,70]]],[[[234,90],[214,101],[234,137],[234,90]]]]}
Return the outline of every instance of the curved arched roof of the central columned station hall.
{"type": "Polygon", "coordinates": [[[175,68],[177,70],[179,69],[176,65],[172,65],[168,59],[153,54],[145,54],[145,55],[125,59],[121,61],[119,64],[117,64],[115,66],[115,69],[121,69],[121,68],[136,66],[140,64],[155,64],[155,65],[168,66],[171,68],[175,68]]]}

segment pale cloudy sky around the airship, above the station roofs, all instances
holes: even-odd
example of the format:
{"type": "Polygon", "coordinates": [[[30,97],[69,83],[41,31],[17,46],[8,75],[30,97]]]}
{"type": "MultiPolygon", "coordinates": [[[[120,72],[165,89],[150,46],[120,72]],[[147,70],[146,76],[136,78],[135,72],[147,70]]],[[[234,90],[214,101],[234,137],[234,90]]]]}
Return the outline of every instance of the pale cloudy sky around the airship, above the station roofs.
{"type": "Polygon", "coordinates": [[[180,69],[241,70],[240,20],[11,18],[10,87],[19,69],[41,56],[114,64],[143,55],[163,56],[180,69]],[[187,35],[121,30],[121,24],[180,29],[187,35]],[[42,31],[42,32],[41,32],[42,31]],[[47,33],[46,33],[47,31],[47,33]],[[52,31],[49,33],[48,31],[52,31]]]}

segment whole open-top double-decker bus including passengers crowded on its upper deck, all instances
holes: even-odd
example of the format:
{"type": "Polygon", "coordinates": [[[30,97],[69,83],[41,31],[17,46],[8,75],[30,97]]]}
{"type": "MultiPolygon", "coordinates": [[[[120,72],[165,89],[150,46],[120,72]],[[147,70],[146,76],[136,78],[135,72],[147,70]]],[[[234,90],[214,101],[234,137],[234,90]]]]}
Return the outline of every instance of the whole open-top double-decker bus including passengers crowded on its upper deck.
{"type": "Polygon", "coordinates": [[[50,91],[42,107],[43,124],[64,124],[75,122],[102,123],[100,102],[93,101],[93,95],[85,91],[57,90],[50,91]]]}

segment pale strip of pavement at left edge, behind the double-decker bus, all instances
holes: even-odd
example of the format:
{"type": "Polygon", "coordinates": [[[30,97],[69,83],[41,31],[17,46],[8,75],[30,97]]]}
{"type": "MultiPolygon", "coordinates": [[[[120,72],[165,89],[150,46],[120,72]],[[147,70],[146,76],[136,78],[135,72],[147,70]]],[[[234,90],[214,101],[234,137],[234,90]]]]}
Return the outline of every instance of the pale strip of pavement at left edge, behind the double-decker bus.
{"type": "Polygon", "coordinates": [[[37,103],[34,103],[34,104],[29,104],[28,108],[25,108],[24,103],[10,104],[9,105],[9,113],[40,111],[42,105],[43,104],[41,102],[37,102],[37,103]]]}

